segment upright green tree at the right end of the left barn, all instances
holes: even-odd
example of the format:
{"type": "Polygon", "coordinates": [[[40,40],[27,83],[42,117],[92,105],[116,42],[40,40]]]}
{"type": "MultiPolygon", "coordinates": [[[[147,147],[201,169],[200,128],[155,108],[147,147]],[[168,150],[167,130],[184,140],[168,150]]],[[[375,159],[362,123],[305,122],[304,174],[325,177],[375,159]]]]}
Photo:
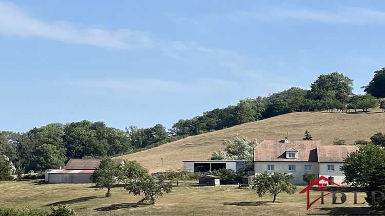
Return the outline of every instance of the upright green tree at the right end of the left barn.
{"type": "Polygon", "coordinates": [[[117,182],[118,174],[118,165],[114,164],[110,158],[103,157],[99,167],[92,173],[91,180],[96,187],[107,188],[106,196],[109,197],[112,186],[117,182]]]}

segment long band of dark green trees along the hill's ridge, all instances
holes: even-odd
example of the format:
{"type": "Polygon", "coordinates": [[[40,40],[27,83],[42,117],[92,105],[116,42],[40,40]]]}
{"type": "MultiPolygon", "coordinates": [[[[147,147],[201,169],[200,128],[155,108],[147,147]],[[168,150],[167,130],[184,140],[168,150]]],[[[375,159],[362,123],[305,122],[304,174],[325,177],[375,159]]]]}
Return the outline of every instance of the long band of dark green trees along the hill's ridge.
{"type": "Polygon", "coordinates": [[[83,120],[51,123],[26,133],[0,132],[0,155],[18,169],[42,170],[64,166],[70,158],[99,158],[128,154],[162,145],[187,136],[221,130],[234,125],[301,111],[362,110],[377,107],[385,111],[385,68],[375,71],[365,95],[353,94],[353,80],[334,72],[320,75],[311,89],[292,87],[285,91],[240,100],[236,105],[204,112],[191,119],[180,119],[167,130],[162,124],[150,128],[133,125],[120,130],[104,122],[83,120]]]}

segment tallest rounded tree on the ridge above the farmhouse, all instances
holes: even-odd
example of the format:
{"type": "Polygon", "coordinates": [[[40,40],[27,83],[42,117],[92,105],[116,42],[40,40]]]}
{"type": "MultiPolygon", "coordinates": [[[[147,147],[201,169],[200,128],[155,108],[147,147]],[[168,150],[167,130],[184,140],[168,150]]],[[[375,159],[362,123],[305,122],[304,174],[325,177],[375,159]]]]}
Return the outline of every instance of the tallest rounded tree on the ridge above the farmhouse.
{"type": "Polygon", "coordinates": [[[341,102],[348,102],[349,97],[353,95],[353,80],[338,72],[320,75],[310,87],[308,96],[314,100],[324,99],[330,91],[333,91],[335,99],[341,102]]]}

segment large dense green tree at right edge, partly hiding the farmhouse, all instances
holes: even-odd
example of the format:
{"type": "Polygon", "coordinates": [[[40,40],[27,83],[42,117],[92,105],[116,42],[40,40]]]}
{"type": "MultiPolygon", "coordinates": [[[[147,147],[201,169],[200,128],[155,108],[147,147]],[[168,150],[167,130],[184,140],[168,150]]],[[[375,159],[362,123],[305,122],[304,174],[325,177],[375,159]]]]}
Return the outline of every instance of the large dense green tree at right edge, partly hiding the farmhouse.
{"type": "Polygon", "coordinates": [[[369,205],[384,208],[380,203],[372,203],[372,191],[382,191],[385,186],[385,151],[381,147],[371,143],[359,146],[358,151],[344,159],[340,169],[345,174],[344,183],[361,186],[367,193],[365,200],[369,205]]]}

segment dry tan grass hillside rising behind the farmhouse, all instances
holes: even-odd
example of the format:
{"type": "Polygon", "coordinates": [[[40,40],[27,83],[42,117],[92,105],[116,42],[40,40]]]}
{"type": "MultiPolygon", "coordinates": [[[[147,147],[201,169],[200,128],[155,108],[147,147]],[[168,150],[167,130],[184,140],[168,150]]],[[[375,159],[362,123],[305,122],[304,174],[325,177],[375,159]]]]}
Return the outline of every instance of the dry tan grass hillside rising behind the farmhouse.
{"type": "Polygon", "coordinates": [[[209,159],[213,151],[224,149],[222,140],[235,135],[248,139],[283,139],[289,133],[289,139],[302,139],[305,130],[309,130],[314,139],[323,145],[333,145],[334,138],[347,140],[352,144],[357,139],[369,138],[377,132],[385,132],[385,113],[372,109],[368,113],[291,113],[251,123],[237,125],[215,132],[187,137],[146,151],[119,156],[137,160],[150,172],[179,169],[182,160],[209,159]]]}

